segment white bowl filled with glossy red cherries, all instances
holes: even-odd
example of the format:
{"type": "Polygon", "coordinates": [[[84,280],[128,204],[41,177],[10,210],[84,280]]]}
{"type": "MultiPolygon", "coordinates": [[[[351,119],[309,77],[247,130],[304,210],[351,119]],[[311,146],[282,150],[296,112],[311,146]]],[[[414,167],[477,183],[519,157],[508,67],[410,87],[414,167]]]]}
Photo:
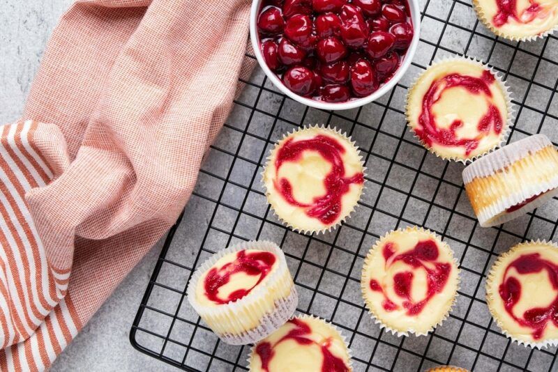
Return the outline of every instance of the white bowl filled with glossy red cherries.
{"type": "Polygon", "coordinates": [[[418,0],[253,0],[250,38],[282,93],[352,109],[389,91],[411,64],[418,0]]]}

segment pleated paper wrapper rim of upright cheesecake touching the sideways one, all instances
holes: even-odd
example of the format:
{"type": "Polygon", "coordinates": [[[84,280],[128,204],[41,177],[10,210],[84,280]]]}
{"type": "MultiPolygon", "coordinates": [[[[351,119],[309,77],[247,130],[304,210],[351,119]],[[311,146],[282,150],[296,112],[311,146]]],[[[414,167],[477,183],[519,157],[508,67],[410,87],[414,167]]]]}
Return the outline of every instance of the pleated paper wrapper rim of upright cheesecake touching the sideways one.
{"type": "Polygon", "coordinates": [[[430,66],[428,66],[428,68],[426,70],[421,72],[414,79],[414,82],[409,87],[409,93],[407,93],[407,99],[406,99],[406,103],[405,103],[405,116],[407,118],[407,127],[409,127],[411,132],[414,134],[414,138],[416,139],[416,141],[418,141],[419,144],[421,144],[424,148],[426,148],[426,150],[430,151],[430,153],[436,155],[437,157],[439,157],[442,160],[450,160],[450,161],[455,161],[455,162],[461,162],[463,164],[474,162],[474,160],[478,159],[479,157],[483,157],[484,155],[487,155],[491,151],[493,151],[493,150],[499,148],[500,146],[502,146],[504,141],[508,138],[508,135],[509,135],[509,132],[510,132],[510,127],[511,127],[511,125],[513,123],[513,120],[514,120],[514,117],[515,117],[514,115],[515,115],[515,109],[513,109],[513,104],[511,103],[510,89],[506,85],[504,80],[502,79],[502,76],[496,70],[494,70],[494,68],[492,68],[489,65],[486,65],[485,63],[482,63],[481,61],[478,61],[478,59],[469,58],[469,57],[460,57],[460,56],[444,57],[444,58],[441,58],[441,59],[436,59],[434,62],[432,62],[432,64],[430,66]],[[421,79],[421,77],[425,74],[425,72],[430,70],[430,68],[434,68],[435,66],[441,65],[441,64],[444,64],[444,63],[451,63],[452,61],[468,61],[470,63],[474,63],[475,65],[480,65],[485,70],[489,70],[492,73],[492,75],[495,77],[495,81],[497,82],[498,86],[502,90],[502,93],[504,94],[504,98],[506,99],[507,117],[506,117],[506,123],[504,123],[504,127],[502,127],[502,133],[500,133],[500,141],[497,144],[495,144],[492,148],[489,148],[488,150],[486,150],[485,152],[483,152],[481,154],[478,154],[478,155],[475,155],[475,156],[472,156],[472,157],[467,157],[467,158],[462,158],[462,157],[457,157],[457,156],[449,156],[448,157],[448,156],[437,153],[437,151],[434,148],[432,148],[431,146],[428,146],[428,144],[426,144],[420,137],[418,137],[416,135],[416,132],[414,131],[414,128],[411,125],[412,118],[409,117],[409,98],[411,97],[411,95],[412,95],[414,89],[416,88],[416,86],[418,86],[417,84],[418,84],[418,81],[421,79]]]}

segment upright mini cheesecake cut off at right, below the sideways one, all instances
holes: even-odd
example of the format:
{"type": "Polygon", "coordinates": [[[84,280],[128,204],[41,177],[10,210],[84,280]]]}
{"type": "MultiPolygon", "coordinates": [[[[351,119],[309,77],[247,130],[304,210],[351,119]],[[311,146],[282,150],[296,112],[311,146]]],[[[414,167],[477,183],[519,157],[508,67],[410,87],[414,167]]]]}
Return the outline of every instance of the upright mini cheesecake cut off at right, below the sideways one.
{"type": "Polygon", "coordinates": [[[558,345],[558,247],[525,242],[502,254],[486,281],[488,309],[504,333],[526,346],[558,345]]]}

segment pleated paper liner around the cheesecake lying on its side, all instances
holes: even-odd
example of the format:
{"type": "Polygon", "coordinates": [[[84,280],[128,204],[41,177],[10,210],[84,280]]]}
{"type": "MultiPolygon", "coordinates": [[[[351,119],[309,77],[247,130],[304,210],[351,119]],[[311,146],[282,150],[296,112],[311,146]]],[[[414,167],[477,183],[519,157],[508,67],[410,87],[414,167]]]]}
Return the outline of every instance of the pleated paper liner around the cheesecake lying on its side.
{"type": "Polygon", "coordinates": [[[552,142],[544,134],[535,134],[504,146],[467,166],[463,170],[463,182],[465,183],[467,196],[469,196],[469,200],[474,206],[479,224],[483,227],[503,224],[538,208],[552,196],[558,194],[558,153],[552,146],[552,142]],[[549,155],[543,153],[546,148],[550,149],[549,155]],[[550,163],[554,162],[555,170],[552,171],[552,169],[549,170],[541,166],[538,161],[541,157],[550,163]],[[525,178],[515,177],[513,178],[515,184],[508,185],[508,183],[499,180],[498,177],[492,177],[499,172],[505,172],[507,177],[512,177],[512,173],[508,169],[514,164],[520,167],[518,172],[523,173],[525,178]],[[545,179],[538,180],[535,183],[533,176],[541,176],[545,179]],[[475,191],[472,187],[474,180],[482,180],[484,182],[482,187],[487,187],[486,192],[478,197],[487,196],[488,188],[490,188],[491,194],[493,192],[497,195],[497,200],[491,201],[488,206],[476,207],[477,200],[474,198],[477,196],[478,190],[475,191]],[[520,189],[514,191],[513,187],[518,185],[520,185],[520,189]],[[508,208],[542,193],[545,194],[527,203],[522,208],[509,213],[505,212],[508,208]]]}

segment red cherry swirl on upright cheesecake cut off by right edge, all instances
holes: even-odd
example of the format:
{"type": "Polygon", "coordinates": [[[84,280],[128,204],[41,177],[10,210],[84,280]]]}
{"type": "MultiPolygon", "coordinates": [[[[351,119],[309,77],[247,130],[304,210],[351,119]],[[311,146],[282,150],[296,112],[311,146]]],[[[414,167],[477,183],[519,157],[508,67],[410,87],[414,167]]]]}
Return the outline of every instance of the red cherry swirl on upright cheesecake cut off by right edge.
{"type": "Polygon", "coordinates": [[[558,295],[548,305],[548,307],[534,307],[525,311],[522,316],[515,316],[513,307],[521,299],[521,282],[509,274],[509,270],[514,268],[518,274],[534,274],[546,270],[548,279],[552,288],[558,290],[558,265],[551,261],[545,260],[541,254],[523,254],[511,262],[506,271],[502,284],[499,286],[499,295],[504,301],[504,309],[506,312],[523,327],[529,327],[532,330],[533,339],[541,339],[543,337],[547,323],[554,323],[558,327],[558,295]]]}

